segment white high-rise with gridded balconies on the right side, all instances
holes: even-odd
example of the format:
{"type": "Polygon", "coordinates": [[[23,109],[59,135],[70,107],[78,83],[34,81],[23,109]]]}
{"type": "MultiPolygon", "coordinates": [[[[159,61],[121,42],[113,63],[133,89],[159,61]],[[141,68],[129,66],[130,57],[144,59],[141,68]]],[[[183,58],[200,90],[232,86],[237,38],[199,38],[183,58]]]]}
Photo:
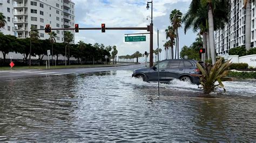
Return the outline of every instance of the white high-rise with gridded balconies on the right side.
{"type": "MultiPolygon", "coordinates": [[[[251,12],[251,47],[256,46],[255,4],[252,2],[251,12]]],[[[234,47],[245,46],[245,9],[244,0],[231,0],[230,20],[223,30],[215,32],[215,49],[217,54],[228,54],[234,47]]]]}

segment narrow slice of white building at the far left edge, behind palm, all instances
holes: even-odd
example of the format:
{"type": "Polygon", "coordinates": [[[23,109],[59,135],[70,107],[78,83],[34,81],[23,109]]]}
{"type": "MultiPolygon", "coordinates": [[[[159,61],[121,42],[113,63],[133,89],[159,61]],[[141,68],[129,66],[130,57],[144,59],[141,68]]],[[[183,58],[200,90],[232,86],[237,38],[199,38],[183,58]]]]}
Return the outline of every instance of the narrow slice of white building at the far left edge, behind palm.
{"type": "Polygon", "coordinates": [[[0,0],[0,12],[6,17],[6,25],[4,28],[0,28],[0,32],[14,35],[14,4],[12,0],[0,0]]]}

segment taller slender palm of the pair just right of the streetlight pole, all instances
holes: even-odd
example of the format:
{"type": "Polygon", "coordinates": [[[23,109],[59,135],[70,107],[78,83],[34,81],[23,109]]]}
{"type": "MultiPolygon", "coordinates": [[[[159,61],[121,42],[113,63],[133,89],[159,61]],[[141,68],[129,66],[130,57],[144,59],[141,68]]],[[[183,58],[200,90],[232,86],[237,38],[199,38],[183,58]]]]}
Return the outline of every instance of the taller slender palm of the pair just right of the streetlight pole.
{"type": "Polygon", "coordinates": [[[170,21],[171,24],[176,31],[176,50],[175,50],[175,59],[176,59],[176,54],[178,54],[178,59],[179,59],[179,33],[178,33],[178,28],[181,27],[181,17],[182,13],[180,10],[174,9],[171,14],[170,14],[170,21]]]}

